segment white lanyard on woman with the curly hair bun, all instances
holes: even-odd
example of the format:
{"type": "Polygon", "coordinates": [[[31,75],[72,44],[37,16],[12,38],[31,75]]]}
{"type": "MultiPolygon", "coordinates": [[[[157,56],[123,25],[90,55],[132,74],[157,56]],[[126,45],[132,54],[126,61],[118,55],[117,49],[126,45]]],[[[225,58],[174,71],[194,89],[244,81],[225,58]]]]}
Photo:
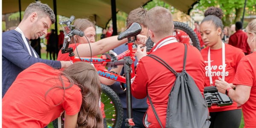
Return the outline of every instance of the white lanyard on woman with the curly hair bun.
{"type": "MultiPolygon", "coordinates": [[[[212,86],[212,72],[211,72],[211,57],[210,48],[208,52],[208,74],[210,78],[210,85],[212,86]]],[[[222,42],[222,79],[225,80],[225,44],[222,42]]]]}

